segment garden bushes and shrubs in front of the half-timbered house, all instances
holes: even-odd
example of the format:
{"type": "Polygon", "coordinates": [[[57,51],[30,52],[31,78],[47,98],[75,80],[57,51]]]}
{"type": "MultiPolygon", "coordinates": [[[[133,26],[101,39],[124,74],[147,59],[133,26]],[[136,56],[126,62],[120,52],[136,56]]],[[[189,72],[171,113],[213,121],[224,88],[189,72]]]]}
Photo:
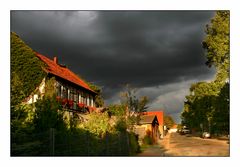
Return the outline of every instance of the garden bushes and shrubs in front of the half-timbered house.
{"type": "MultiPolygon", "coordinates": [[[[24,114],[27,109],[19,109],[23,113],[16,112],[14,118],[26,118],[27,115],[20,114],[24,114]]],[[[126,131],[124,119],[119,117],[118,125],[110,127],[107,113],[91,113],[82,128],[69,129],[66,128],[59,109],[55,96],[38,100],[32,124],[28,124],[26,128],[28,130],[19,131],[19,124],[12,127],[18,131],[11,131],[11,155],[52,155],[53,135],[55,156],[127,156],[139,152],[137,136],[126,131]],[[29,127],[34,129],[30,131],[29,127]],[[49,133],[51,127],[55,129],[52,135],[49,133]]]]}

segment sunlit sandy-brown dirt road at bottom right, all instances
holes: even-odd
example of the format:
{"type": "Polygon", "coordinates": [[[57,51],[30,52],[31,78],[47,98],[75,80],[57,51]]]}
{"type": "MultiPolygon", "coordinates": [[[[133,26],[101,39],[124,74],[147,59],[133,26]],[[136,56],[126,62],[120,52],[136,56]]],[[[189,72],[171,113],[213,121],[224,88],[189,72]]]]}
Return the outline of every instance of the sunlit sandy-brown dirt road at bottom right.
{"type": "Polygon", "coordinates": [[[138,156],[229,156],[229,144],[222,140],[171,133],[158,144],[143,148],[138,156]]]}

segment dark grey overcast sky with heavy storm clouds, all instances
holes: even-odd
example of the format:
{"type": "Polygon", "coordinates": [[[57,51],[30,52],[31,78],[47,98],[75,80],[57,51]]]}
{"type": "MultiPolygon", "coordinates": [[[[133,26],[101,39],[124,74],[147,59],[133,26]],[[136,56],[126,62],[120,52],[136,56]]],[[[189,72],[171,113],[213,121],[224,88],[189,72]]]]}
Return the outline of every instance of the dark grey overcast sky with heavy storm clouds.
{"type": "Polygon", "coordinates": [[[123,85],[180,122],[194,82],[210,81],[201,42],[214,11],[11,11],[11,31],[35,51],[103,88],[106,104],[123,85]]]}

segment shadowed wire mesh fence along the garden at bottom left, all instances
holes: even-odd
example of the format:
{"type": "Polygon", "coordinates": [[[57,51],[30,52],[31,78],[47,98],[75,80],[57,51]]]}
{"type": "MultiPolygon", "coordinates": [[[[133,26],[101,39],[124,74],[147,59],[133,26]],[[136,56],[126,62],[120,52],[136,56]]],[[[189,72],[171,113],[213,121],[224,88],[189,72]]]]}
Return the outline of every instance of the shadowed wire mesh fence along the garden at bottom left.
{"type": "Polygon", "coordinates": [[[50,129],[11,137],[12,156],[128,156],[139,149],[137,136],[128,132],[99,137],[88,131],[50,129]]]}

